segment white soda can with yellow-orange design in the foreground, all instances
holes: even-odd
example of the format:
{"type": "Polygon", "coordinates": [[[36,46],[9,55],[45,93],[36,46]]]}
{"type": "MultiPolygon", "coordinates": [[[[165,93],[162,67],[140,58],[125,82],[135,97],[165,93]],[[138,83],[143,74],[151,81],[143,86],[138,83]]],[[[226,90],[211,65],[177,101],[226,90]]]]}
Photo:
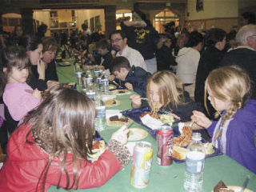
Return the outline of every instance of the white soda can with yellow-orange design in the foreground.
{"type": "Polygon", "coordinates": [[[150,142],[138,142],[134,146],[133,165],[130,174],[130,185],[145,188],[150,180],[153,148],[150,142]]]}

